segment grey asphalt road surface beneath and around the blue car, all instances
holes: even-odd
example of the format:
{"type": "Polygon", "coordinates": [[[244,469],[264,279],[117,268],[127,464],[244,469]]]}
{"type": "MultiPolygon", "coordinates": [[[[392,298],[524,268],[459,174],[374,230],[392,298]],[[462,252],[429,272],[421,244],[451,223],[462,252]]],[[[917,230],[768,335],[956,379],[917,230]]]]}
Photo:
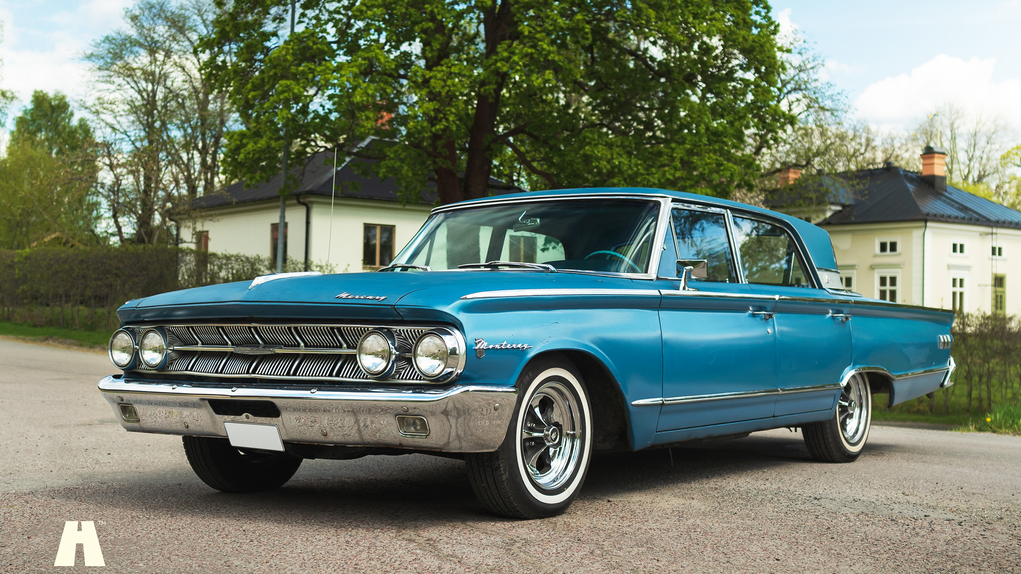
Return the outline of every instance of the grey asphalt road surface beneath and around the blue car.
{"type": "Polygon", "coordinates": [[[0,572],[1021,572],[1021,438],[873,427],[858,462],[786,430],[596,459],[564,515],[486,514],[459,461],[306,461],[223,494],[124,431],[104,355],[0,340],[0,572]],[[54,567],[92,520],[106,568],[54,567]]]}

